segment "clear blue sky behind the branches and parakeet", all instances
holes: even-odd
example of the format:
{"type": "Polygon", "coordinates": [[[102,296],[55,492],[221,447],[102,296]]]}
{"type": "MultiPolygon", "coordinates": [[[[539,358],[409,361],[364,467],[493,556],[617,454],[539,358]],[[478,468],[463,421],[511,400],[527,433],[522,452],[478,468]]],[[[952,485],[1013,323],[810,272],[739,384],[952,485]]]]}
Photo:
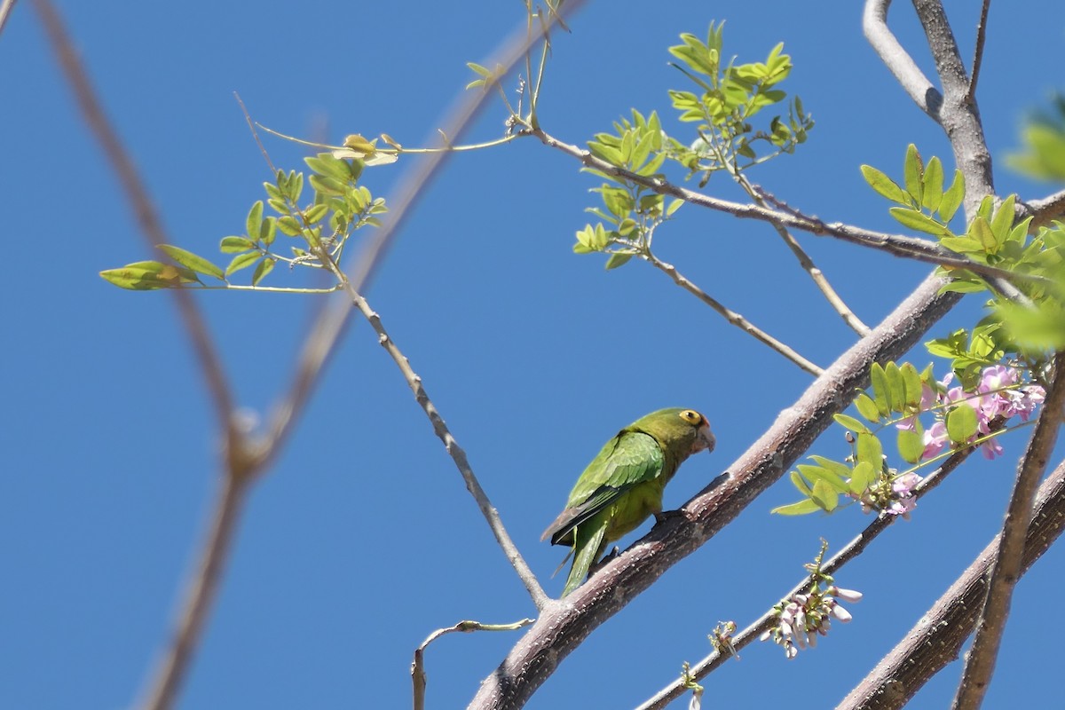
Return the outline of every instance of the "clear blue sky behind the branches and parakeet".
{"type": "MultiPolygon", "coordinates": [[[[100,97],[177,244],[215,255],[240,233],[269,178],[233,99],[279,131],[339,142],[389,133],[423,143],[484,62],[522,20],[520,2],[460,7],[394,0],[60,2],[100,97]]],[[[760,61],[777,42],[796,65],[785,88],[817,126],[809,142],[751,175],[825,220],[898,231],[858,172],[901,171],[915,143],[950,164],[941,131],[903,95],[861,35],[858,3],[592,3],[557,34],[541,121],[569,143],[630,108],[671,116],[667,66],[681,32],[725,20],[725,52],[760,61]]],[[[970,55],[979,2],[948,11],[970,55]]],[[[0,705],[118,708],[138,695],[168,638],[217,488],[217,433],[203,384],[162,293],[128,293],[100,269],[154,258],[91,139],[33,13],[22,2],[0,36],[0,204],[9,235],[0,316],[2,514],[0,705]]],[[[1062,78],[1055,2],[992,10],[980,81],[1002,194],[1055,186],[1003,167],[1022,117],[1062,78]],[[1037,21],[1033,18],[1039,18],[1037,21]]],[[[912,10],[891,17],[931,71],[912,10]]],[[[468,134],[501,135],[493,104],[468,134]]],[[[667,130],[679,131],[671,118],[667,130]]],[[[268,139],[274,161],[302,153],[268,139]]],[[[388,197],[414,159],[368,169],[388,197]]],[[[660,407],[706,413],[718,449],[689,461],[667,491],[675,508],[773,422],[808,377],[727,326],[641,263],[605,273],[571,252],[597,185],[572,159],[532,141],[450,161],[417,204],[367,293],[423,377],[531,567],[561,558],[539,542],[573,480],[621,426],[660,407]]],[[[716,177],[707,191],[738,198],[716,177]]],[[[870,324],[927,274],[907,263],[801,235],[870,324]]],[[[691,207],[659,231],[659,255],[760,327],[829,364],[853,334],[819,299],[775,234],[691,207]]],[[[272,282],[289,278],[277,269],[272,282]]],[[[266,410],[288,373],[315,296],[198,295],[241,403],[266,410]]],[[[971,325],[966,301],[933,331],[971,325]]],[[[914,361],[930,358],[918,349],[914,361]]],[[[750,647],[705,682],[715,704],[823,708],[841,699],[968,565],[997,529],[1023,447],[973,463],[922,499],[838,575],[866,593],[855,620],[785,662],[750,647]],[[773,682],[766,682],[767,676],[773,682]]],[[[830,430],[812,452],[842,456],[830,430]]],[[[856,510],[801,519],[768,511],[796,498],[784,481],[600,628],[530,708],[628,707],[709,650],[721,620],[740,626],[794,584],[825,536],[837,549],[869,518],[856,510]]],[[[640,533],[648,527],[641,528],[640,533]]],[[[632,542],[635,534],[625,541],[632,542]]],[[[1062,552],[1051,550],[1015,597],[988,707],[1058,695],[1056,639],[1045,631],[1062,552]],[[1056,666],[1053,666],[1056,667],[1056,666]]],[[[376,337],[344,337],[276,467],[250,496],[181,707],[405,707],[413,648],[460,620],[534,614],[458,474],[376,337]]],[[[430,707],[462,707],[518,632],[450,635],[427,653],[430,707]]],[[[955,664],[916,707],[951,697],[955,664]]]]}

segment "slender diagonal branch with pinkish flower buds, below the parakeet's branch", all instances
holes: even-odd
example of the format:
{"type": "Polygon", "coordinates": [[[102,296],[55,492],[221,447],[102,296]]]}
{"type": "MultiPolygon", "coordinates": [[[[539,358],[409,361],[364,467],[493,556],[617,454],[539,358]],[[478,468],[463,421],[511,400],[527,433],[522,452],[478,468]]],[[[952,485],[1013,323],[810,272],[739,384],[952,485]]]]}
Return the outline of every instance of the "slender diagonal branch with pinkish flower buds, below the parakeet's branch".
{"type": "MultiPolygon", "coordinates": [[[[941,466],[936,470],[929,474],[920,484],[914,489],[914,493],[918,498],[921,498],[925,493],[934,489],[936,485],[941,483],[947,475],[952,470],[957,468],[963,461],[969,458],[972,453],[973,448],[967,448],[963,451],[952,455],[947,459],[941,466]]],[[[872,523],[866,526],[866,529],[857,534],[854,540],[845,545],[838,552],[836,552],[832,559],[822,565],[821,571],[826,575],[834,575],[838,569],[841,569],[848,562],[858,557],[866,547],[876,539],[880,533],[884,532],[895,523],[896,516],[888,515],[886,513],[881,513],[876,516],[872,523]]],[[[796,584],[794,588],[787,594],[785,594],[782,599],[788,599],[794,594],[801,593],[803,590],[809,587],[809,576],[803,578],[801,582],[796,584]]],[[[740,650],[750,643],[756,641],[761,633],[773,627],[776,620],[776,612],[770,609],[757,621],[753,622],[746,629],[733,637],[732,647],[735,650],[740,650]]],[[[692,680],[702,680],[710,673],[716,671],[718,667],[724,664],[725,661],[732,656],[730,654],[722,654],[720,650],[715,649],[708,654],[701,661],[690,666],[689,676],[692,680]]],[[[673,700],[677,699],[687,692],[684,680],[678,678],[674,680],[666,688],[661,689],[653,697],[648,699],[643,705],[639,706],[636,710],[661,710],[668,706],[673,700]]]]}

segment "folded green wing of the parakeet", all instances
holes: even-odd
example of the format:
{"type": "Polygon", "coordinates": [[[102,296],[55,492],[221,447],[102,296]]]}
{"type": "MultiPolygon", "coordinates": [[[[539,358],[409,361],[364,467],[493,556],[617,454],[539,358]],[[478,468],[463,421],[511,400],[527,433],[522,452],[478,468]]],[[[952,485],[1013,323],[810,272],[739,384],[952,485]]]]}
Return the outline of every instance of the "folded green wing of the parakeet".
{"type": "Polygon", "coordinates": [[[568,543],[570,532],[637,483],[656,478],[665,457],[653,436],[640,431],[622,431],[607,442],[599,456],[580,474],[570,493],[566,510],[547,526],[541,540],[568,543]]]}

